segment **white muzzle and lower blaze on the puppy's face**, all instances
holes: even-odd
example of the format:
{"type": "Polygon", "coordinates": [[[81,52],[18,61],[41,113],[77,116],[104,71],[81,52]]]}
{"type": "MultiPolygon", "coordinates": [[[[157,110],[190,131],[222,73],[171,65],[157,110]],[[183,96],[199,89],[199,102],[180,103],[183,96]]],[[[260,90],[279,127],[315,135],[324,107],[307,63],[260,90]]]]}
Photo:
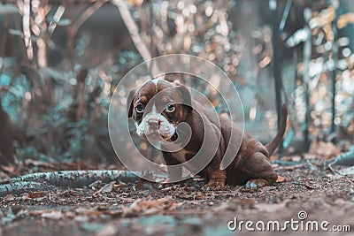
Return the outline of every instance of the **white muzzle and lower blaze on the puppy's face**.
{"type": "Polygon", "coordinates": [[[135,126],[136,133],[139,136],[148,136],[150,134],[158,132],[165,140],[170,139],[176,132],[176,127],[173,126],[173,124],[169,123],[163,115],[158,113],[155,104],[152,106],[151,111],[145,114],[145,116],[142,118],[142,122],[140,123],[140,125],[135,122],[135,126]],[[150,127],[149,122],[151,119],[158,119],[158,130],[156,130],[154,127],[150,127]]]}

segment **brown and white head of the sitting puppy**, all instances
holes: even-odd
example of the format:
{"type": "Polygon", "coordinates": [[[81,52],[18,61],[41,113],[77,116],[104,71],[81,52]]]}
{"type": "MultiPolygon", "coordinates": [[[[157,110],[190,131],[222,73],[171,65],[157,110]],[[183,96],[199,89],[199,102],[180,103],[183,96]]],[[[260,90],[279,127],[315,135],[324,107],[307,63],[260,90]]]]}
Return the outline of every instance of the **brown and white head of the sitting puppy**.
{"type": "Polygon", "coordinates": [[[127,97],[127,116],[134,118],[136,133],[142,138],[170,140],[192,110],[189,89],[166,80],[149,80],[127,97]]]}

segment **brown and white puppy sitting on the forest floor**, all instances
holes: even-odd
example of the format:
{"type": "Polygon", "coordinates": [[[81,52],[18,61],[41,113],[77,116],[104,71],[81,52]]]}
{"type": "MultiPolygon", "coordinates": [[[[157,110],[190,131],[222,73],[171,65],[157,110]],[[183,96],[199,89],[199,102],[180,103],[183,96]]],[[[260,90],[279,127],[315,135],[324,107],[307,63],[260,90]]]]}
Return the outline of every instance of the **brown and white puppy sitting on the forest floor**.
{"type": "MultiPolygon", "coordinates": [[[[189,124],[191,137],[188,144],[181,150],[163,151],[169,179],[181,177],[181,168],[169,168],[169,166],[185,163],[195,156],[202,147],[204,131],[209,130],[211,132],[208,133],[215,133],[215,135],[208,134],[207,141],[211,144],[218,141],[219,148],[212,161],[199,172],[208,181],[208,186],[223,187],[227,183],[245,184],[247,188],[255,188],[265,187],[276,181],[277,174],[272,169],[269,157],[281,143],[285,133],[288,116],[285,105],[281,109],[281,127],[278,133],[273,141],[264,146],[249,134],[242,135],[242,130],[228,118],[218,116],[204,108],[201,103],[192,100],[189,89],[180,84],[166,80],[149,80],[142,87],[130,91],[127,101],[127,116],[134,118],[136,133],[142,138],[159,136],[165,141],[176,141],[179,124],[181,122],[189,124]],[[149,103],[157,94],[152,103],[149,103]],[[231,132],[235,132],[236,135],[232,136],[231,132]],[[231,137],[235,139],[230,141],[231,137]],[[221,160],[228,144],[240,142],[241,146],[233,162],[226,170],[221,170],[221,160]]],[[[193,166],[187,168],[193,169],[193,166]]]]}

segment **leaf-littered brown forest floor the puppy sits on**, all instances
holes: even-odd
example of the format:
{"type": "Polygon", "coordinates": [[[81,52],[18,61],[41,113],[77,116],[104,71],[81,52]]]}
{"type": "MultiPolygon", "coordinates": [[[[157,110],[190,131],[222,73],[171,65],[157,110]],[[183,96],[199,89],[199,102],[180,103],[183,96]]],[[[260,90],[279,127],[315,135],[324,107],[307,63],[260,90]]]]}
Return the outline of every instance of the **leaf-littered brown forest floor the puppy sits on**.
{"type": "MultiPolygon", "coordinates": [[[[142,180],[137,184],[96,182],[89,187],[7,194],[0,197],[0,235],[249,235],[244,223],[240,227],[241,221],[253,222],[248,226],[255,232],[261,232],[263,222],[263,235],[354,235],[353,175],[335,174],[321,163],[312,159],[274,164],[286,180],[254,190],[208,189],[202,179],[189,179],[165,186],[142,180]],[[306,215],[304,221],[299,220],[306,215]],[[234,232],[227,224],[234,220],[229,226],[235,227],[235,219],[234,232]],[[275,231],[267,231],[273,221],[280,228],[286,221],[298,224],[291,227],[289,223],[286,232],[278,231],[277,225],[275,231]],[[305,223],[311,221],[319,224],[319,231],[311,231],[312,225],[306,231],[305,223]],[[327,232],[320,229],[321,224],[327,232]]],[[[31,161],[16,171],[49,171],[52,165],[31,161]]],[[[61,167],[73,169],[67,164],[61,167]]],[[[0,179],[4,176],[0,171],[0,179]]]]}

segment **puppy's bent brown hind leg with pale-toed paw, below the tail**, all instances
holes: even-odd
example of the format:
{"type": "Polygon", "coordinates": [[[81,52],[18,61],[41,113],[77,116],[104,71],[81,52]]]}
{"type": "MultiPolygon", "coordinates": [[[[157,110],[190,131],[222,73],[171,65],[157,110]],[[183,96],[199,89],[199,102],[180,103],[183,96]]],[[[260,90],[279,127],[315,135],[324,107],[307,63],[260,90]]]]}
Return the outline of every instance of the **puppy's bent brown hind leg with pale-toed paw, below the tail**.
{"type": "Polygon", "coordinates": [[[245,188],[269,186],[278,178],[278,175],[273,171],[269,158],[260,152],[251,156],[244,168],[246,172],[250,173],[250,180],[246,182],[245,188]]]}

